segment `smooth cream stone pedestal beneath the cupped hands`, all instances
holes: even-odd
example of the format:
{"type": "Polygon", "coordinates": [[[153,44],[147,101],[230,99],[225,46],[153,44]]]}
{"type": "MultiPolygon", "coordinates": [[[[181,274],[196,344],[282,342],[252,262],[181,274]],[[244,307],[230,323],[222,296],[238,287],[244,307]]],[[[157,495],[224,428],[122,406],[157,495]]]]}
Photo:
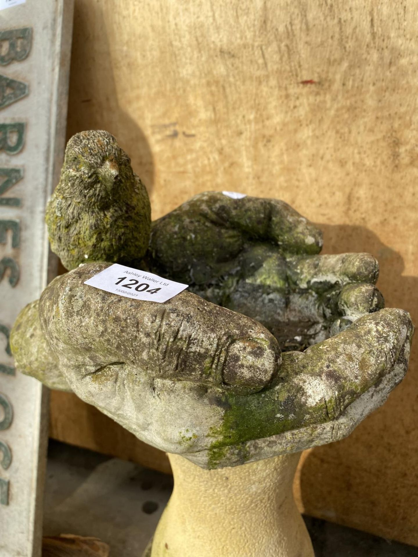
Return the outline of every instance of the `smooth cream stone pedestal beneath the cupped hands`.
{"type": "Polygon", "coordinates": [[[299,456],[203,470],[169,455],[174,490],[144,557],[314,557],[292,493],[299,456]]]}

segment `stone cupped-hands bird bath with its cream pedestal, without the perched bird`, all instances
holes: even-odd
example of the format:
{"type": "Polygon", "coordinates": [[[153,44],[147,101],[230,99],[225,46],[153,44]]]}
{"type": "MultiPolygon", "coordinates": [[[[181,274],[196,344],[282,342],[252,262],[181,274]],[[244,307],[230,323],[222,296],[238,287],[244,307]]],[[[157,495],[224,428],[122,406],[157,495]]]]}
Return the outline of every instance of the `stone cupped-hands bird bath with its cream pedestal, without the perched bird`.
{"type": "Polygon", "coordinates": [[[320,231],[275,199],[200,194],[149,246],[142,268],[189,291],[131,300],[84,284],[110,263],[81,265],[22,310],[18,369],[169,453],[174,491],[145,555],[313,557],[300,452],[385,402],[409,314],[383,309],[372,256],[318,255],[320,231]]]}

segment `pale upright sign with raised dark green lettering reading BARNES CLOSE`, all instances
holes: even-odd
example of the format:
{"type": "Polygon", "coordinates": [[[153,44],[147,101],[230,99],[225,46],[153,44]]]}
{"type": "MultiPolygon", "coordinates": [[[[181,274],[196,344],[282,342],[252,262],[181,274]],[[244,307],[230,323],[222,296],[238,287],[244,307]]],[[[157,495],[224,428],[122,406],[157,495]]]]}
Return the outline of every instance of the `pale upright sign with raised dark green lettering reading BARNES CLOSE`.
{"type": "Polygon", "coordinates": [[[72,9],[0,4],[0,557],[41,554],[46,396],[16,373],[9,331],[47,283],[43,221],[64,153],[72,9]]]}

